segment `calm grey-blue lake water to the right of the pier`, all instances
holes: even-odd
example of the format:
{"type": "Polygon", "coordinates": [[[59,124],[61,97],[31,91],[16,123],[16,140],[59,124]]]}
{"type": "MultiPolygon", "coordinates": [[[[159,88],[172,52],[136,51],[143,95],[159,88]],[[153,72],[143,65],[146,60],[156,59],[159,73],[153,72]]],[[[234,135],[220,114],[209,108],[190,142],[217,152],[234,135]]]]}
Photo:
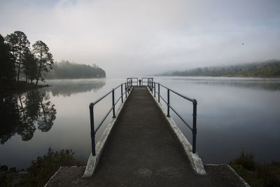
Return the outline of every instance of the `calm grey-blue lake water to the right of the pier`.
{"type": "MultiPolygon", "coordinates": [[[[253,151],[259,162],[279,160],[280,79],[169,77],[156,81],[197,99],[197,152],[204,163],[229,162],[242,147],[253,151]]],[[[167,90],[160,92],[167,99],[167,90]]],[[[172,93],[170,101],[192,124],[192,105],[172,93]]],[[[186,125],[174,113],[171,116],[191,140],[186,125]]]]}

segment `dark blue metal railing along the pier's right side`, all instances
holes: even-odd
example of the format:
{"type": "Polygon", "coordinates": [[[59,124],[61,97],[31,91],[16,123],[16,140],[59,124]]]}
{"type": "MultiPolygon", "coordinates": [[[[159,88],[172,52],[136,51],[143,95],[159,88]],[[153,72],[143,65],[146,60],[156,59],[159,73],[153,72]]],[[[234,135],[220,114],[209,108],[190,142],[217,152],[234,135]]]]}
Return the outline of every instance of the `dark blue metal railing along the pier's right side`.
{"type": "Polygon", "coordinates": [[[197,100],[192,99],[190,97],[186,97],[184,95],[181,95],[179,92],[176,92],[174,90],[171,90],[164,85],[161,85],[160,83],[155,83],[153,79],[148,79],[148,88],[152,92],[152,95],[156,97],[156,94],[158,95],[158,102],[160,102],[160,98],[162,98],[162,101],[167,104],[167,117],[170,117],[170,109],[174,111],[174,113],[187,125],[187,127],[193,132],[193,153],[196,152],[196,136],[197,136],[197,100]],[[158,91],[156,89],[156,85],[158,85],[158,91]],[[160,87],[167,89],[167,101],[160,95],[160,87]],[[193,127],[190,127],[188,123],[186,123],[186,120],[180,116],[180,114],[175,111],[175,109],[170,104],[170,92],[173,92],[176,95],[179,95],[180,97],[183,97],[183,99],[187,99],[190,102],[193,102],[193,127]]]}

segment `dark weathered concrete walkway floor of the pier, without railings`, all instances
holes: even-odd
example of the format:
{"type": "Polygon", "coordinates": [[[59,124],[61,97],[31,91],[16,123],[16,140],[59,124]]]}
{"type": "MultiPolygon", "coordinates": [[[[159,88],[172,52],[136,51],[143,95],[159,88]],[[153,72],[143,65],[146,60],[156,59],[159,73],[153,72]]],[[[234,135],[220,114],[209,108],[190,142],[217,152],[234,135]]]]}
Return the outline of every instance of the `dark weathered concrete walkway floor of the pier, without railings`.
{"type": "Polygon", "coordinates": [[[234,174],[230,182],[213,177],[219,175],[215,169],[195,174],[146,88],[132,90],[93,176],[82,178],[77,170],[66,174],[67,169],[62,167],[48,186],[242,186],[234,174]]]}

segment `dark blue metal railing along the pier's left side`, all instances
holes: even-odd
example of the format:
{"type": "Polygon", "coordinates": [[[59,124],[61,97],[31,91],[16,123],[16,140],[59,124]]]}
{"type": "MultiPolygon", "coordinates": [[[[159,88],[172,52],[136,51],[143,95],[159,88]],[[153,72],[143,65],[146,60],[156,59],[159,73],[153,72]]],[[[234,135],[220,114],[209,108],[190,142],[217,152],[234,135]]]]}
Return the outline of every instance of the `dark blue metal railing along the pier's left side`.
{"type": "Polygon", "coordinates": [[[97,99],[95,102],[90,103],[90,136],[92,138],[92,155],[96,155],[95,153],[95,134],[97,133],[97,130],[99,130],[99,127],[104,123],[106,118],[109,116],[111,111],[113,111],[113,118],[116,118],[116,113],[115,113],[115,106],[116,104],[120,101],[123,103],[123,97],[125,95],[125,98],[127,98],[127,95],[130,93],[130,90],[132,88],[132,79],[127,79],[127,82],[122,83],[118,85],[116,88],[113,88],[110,92],[106,93],[99,99],[97,99]],[[123,92],[123,85],[125,85],[125,92],[123,92]],[[120,88],[120,97],[118,100],[115,102],[115,91],[120,88]],[[94,105],[100,102],[102,99],[107,97],[108,95],[112,94],[112,107],[109,109],[109,111],[106,113],[105,117],[101,120],[99,125],[94,129],[94,105]]]}

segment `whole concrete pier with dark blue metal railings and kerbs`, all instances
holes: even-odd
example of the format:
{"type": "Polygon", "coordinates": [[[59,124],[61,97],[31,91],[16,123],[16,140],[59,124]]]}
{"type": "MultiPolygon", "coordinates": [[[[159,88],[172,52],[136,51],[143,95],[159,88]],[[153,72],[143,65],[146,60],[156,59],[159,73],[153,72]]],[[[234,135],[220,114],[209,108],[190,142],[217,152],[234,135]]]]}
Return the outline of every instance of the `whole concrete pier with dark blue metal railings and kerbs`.
{"type": "MultiPolygon", "coordinates": [[[[141,83],[129,78],[104,96],[112,95],[105,118],[111,113],[113,118],[97,143],[94,136],[104,120],[94,125],[94,104],[104,97],[90,104],[92,153],[87,167],[61,167],[46,186],[247,186],[228,165],[202,164],[169,115],[169,92],[173,90],[167,88],[168,101],[162,102],[168,111],[164,111],[161,85],[157,87],[152,78],[141,83]],[[115,99],[118,88],[121,95],[115,99]],[[115,111],[118,101],[122,104],[115,111]]],[[[189,125],[195,141],[196,100],[186,99],[195,101],[195,127],[189,125]]]]}

